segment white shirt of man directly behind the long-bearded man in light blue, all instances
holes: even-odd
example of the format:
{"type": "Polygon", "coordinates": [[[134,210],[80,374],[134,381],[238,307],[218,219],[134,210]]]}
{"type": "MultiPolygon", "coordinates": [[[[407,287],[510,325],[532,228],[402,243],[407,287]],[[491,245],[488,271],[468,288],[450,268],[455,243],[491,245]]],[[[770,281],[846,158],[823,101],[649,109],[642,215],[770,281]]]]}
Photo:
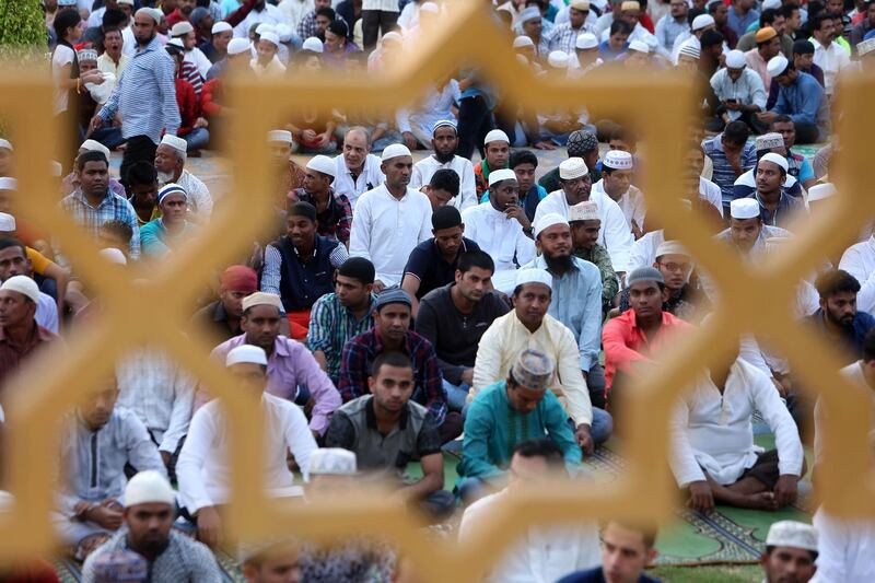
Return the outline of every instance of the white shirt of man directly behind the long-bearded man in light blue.
{"type": "MultiPolygon", "coordinates": [[[[590,200],[598,206],[598,218],[602,220],[598,244],[608,249],[615,271],[629,271],[629,252],[632,249],[634,237],[622,209],[604,190],[596,190],[595,187],[590,190],[590,200]]],[[[558,212],[568,218],[568,200],[562,190],[550,193],[538,203],[533,224],[537,224],[541,217],[550,212],[558,212]]]]}

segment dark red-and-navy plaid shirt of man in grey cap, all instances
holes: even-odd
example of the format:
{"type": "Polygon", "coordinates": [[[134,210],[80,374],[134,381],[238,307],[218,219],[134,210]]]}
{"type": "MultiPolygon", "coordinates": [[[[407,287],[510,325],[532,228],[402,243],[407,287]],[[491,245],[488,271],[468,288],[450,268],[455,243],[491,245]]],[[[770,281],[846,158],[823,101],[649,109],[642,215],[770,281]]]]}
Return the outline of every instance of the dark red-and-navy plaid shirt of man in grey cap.
{"type": "MultiPolygon", "coordinates": [[[[408,330],[404,351],[413,361],[417,386],[411,399],[429,409],[438,420],[438,424],[443,423],[446,416],[446,390],[434,348],[425,338],[408,330]]],[[[376,328],[360,334],[343,346],[338,387],[343,403],[368,394],[368,373],[374,358],[381,352],[383,352],[383,341],[376,328]]]]}

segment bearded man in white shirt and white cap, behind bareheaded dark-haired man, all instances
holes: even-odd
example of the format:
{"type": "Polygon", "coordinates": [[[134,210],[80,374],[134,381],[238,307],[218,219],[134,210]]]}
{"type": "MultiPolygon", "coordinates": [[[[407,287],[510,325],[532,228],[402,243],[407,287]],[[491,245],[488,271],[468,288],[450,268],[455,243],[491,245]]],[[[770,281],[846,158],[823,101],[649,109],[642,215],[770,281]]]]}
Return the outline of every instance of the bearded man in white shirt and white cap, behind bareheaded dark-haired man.
{"type": "Polygon", "coordinates": [[[471,161],[456,155],[456,147],[458,145],[456,123],[444,119],[434,124],[431,144],[434,148],[434,153],[413,165],[410,186],[420,188],[429,184],[436,171],[448,168],[458,174],[460,182],[459,196],[454,197],[450,205],[459,211],[477,205],[477,185],[474,182],[471,161]]]}

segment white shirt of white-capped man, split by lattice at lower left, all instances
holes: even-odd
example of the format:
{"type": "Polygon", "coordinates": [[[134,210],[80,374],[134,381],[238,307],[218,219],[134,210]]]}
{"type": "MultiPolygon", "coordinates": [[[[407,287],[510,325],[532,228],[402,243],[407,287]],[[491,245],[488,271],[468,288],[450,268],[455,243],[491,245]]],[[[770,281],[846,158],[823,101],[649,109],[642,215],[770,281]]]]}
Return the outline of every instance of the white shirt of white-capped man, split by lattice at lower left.
{"type": "MultiPolygon", "coordinates": [[[[294,476],[285,463],[291,450],[304,477],[310,471],[310,456],[317,448],[307,418],[296,405],[264,394],[265,439],[261,454],[265,462],[265,488],[284,490],[292,487],[294,476]]],[[[205,506],[224,504],[231,493],[231,442],[222,405],[212,400],[191,418],[188,436],[176,463],[179,497],[190,513],[205,506]]]]}

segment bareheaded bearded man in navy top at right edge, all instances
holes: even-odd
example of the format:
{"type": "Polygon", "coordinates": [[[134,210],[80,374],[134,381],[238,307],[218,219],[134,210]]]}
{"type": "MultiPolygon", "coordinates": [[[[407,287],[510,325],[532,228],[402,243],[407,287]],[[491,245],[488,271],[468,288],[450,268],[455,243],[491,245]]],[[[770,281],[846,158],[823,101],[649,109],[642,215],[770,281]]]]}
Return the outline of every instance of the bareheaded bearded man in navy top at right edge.
{"type": "Polygon", "coordinates": [[[860,282],[841,269],[827,271],[815,282],[820,296],[820,308],[808,316],[817,330],[830,345],[842,347],[844,364],[863,358],[863,340],[875,328],[875,318],[856,308],[860,282]]]}

